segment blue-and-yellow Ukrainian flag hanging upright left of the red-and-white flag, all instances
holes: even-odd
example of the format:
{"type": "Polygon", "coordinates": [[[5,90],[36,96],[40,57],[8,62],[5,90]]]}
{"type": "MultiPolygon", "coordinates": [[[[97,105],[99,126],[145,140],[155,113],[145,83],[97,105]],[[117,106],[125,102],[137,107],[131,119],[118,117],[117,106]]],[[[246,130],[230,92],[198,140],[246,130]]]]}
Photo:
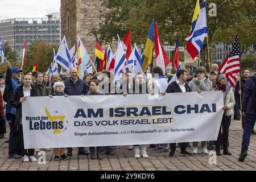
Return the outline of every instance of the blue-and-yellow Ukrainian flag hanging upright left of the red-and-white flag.
{"type": "Polygon", "coordinates": [[[147,43],[144,48],[144,52],[142,55],[142,71],[143,73],[146,71],[148,65],[152,61],[153,54],[153,44],[154,44],[154,20],[152,20],[150,32],[148,34],[147,43]]]}

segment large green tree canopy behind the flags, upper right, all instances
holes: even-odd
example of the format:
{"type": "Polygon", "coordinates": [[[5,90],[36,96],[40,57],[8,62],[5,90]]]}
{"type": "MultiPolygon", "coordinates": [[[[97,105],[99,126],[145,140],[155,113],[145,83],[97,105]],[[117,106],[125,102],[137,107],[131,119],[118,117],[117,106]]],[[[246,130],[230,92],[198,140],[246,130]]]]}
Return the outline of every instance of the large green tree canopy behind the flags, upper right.
{"type": "MultiPolygon", "coordinates": [[[[214,50],[216,43],[234,42],[236,35],[240,39],[240,55],[256,42],[254,0],[212,0],[215,3],[217,16],[209,16],[207,4],[208,39],[210,49],[214,50]]],[[[131,27],[132,42],[145,44],[152,19],[158,22],[159,37],[162,44],[174,45],[176,36],[180,36],[180,46],[185,46],[196,0],[109,0],[102,6],[110,9],[104,15],[105,21],[100,28],[93,29],[91,34],[101,42],[112,43],[126,34],[131,27]]],[[[201,50],[201,65],[206,65],[208,58],[207,41],[205,39],[201,50]]],[[[212,54],[210,54],[212,55],[212,54]]]]}

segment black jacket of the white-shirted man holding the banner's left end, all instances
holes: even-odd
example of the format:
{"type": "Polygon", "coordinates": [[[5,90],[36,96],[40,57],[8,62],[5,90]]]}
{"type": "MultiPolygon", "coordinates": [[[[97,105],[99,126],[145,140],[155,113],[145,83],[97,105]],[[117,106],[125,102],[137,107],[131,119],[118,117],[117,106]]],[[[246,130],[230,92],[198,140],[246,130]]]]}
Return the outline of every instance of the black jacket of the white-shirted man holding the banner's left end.
{"type": "MultiPolygon", "coordinates": [[[[38,92],[34,85],[31,85],[30,97],[38,96],[38,92]]],[[[15,115],[15,126],[20,125],[20,119],[22,118],[22,104],[19,102],[19,99],[24,97],[23,93],[23,84],[16,89],[13,99],[11,100],[11,106],[16,107],[16,115],[15,115]]]]}

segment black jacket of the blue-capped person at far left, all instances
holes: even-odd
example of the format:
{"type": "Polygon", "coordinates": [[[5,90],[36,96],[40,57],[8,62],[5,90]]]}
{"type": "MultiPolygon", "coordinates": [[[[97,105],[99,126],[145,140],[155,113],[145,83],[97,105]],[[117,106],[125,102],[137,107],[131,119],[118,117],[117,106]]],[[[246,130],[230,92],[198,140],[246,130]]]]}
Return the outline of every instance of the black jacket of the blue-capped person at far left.
{"type": "MultiPolygon", "coordinates": [[[[5,79],[5,91],[3,92],[3,100],[7,103],[6,105],[6,114],[11,114],[11,99],[14,95],[13,82],[11,81],[11,69],[8,68],[6,72],[5,79]]],[[[21,85],[22,82],[18,81],[18,85],[21,85]]]]}

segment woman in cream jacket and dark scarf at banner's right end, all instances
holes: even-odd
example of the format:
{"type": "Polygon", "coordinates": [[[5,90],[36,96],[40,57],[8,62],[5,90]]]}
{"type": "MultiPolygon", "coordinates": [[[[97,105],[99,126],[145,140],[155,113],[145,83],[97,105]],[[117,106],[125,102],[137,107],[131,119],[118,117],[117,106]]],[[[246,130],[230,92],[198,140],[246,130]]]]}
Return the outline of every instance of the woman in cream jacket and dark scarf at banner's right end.
{"type": "Polygon", "coordinates": [[[231,155],[228,151],[229,146],[229,126],[231,123],[231,116],[234,114],[234,94],[232,89],[227,85],[227,78],[224,74],[220,74],[217,78],[217,84],[214,87],[214,91],[221,91],[223,93],[224,106],[222,109],[224,113],[222,115],[220,131],[218,132],[218,139],[216,141],[216,155],[221,155],[220,152],[220,140],[221,140],[221,127],[223,138],[223,154],[231,155]]]}

